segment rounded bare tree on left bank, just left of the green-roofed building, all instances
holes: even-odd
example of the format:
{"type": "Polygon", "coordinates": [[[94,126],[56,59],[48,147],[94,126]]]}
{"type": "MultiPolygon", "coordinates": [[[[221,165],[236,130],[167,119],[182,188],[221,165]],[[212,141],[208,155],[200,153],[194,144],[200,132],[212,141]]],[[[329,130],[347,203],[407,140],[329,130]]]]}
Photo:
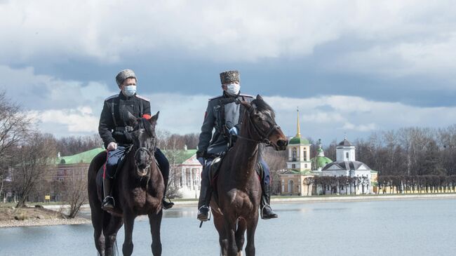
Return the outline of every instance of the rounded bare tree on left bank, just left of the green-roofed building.
{"type": "Polygon", "coordinates": [[[13,177],[19,196],[16,207],[25,205],[36,183],[43,179],[48,167],[55,164],[56,155],[55,139],[50,134],[31,133],[18,147],[13,177]]]}

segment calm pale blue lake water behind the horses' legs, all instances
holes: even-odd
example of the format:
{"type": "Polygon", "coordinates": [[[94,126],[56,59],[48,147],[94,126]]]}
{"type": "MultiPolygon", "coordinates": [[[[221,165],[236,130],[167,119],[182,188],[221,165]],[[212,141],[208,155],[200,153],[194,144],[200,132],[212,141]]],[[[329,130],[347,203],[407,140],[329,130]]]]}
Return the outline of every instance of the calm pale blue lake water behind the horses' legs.
{"type": "MultiPolygon", "coordinates": [[[[279,219],[260,220],[257,255],[455,255],[456,200],[275,204],[279,219]]],[[[163,255],[219,255],[212,222],[196,210],[165,211],[163,255]]],[[[133,255],[152,255],[149,223],[135,222],[133,255]]],[[[119,231],[121,253],[123,229],[119,231]]],[[[0,255],[97,255],[91,224],[0,229],[0,255]]]]}

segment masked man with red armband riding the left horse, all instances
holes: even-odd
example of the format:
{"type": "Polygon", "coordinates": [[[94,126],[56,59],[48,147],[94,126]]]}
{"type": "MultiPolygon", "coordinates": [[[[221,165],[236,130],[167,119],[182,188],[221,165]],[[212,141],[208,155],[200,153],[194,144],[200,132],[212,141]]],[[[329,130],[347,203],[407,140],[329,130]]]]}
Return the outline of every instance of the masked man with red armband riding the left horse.
{"type": "MultiPolygon", "coordinates": [[[[105,100],[100,116],[98,133],[100,133],[100,137],[105,142],[105,148],[108,151],[103,173],[105,199],[102,202],[102,208],[105,210],[114,209],[114,198],[111,195],[112,179],[115,177],[119,159],[124,156],[128,146],[133,144],[133,138],[130,134],[133,127],[128,119],[128,112],[138,118],[150,119],[151,117],[149,100],[136,94],[136,81],[133,70],[125,69],[119,72],[116,76],[116,83],[121,92],[105,100]]],[[[163,175],[166,193],[169,176],[168,159],[158,148],[154,156],[163,175]]],[[[173,207],[173,205],[174,203],[165,201],[163,194],[163,208],[168,209],[173,207]]]]}

